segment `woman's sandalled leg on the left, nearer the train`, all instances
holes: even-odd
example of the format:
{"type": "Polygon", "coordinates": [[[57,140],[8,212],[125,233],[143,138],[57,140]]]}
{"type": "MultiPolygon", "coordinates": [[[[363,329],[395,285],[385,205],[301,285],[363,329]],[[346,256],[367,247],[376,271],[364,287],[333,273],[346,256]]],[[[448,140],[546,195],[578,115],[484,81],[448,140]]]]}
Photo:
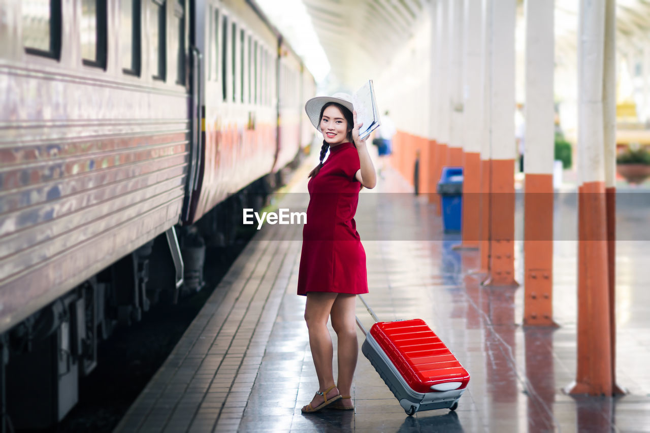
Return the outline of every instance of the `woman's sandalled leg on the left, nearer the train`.
{"type": "MultiPolygon", "coordinates": [[[[309,347],[311,356],[316,367],[318,376],[318,391],[325,391],[334,384],[334,375],[331,369],[333,348],[331,347],[330,331],[327,328],[327,320],[330,317],[331,306],[337,298],[337,293],[307,293],[307,304],[305,305],[305,322],[309,330],[309,347]]],[[[337,389],[332,389],[327,397],[339,395],[337,389]]],[[[311,406],[315,408],[324,401],[321,395],[316,395],[311,400],[311,406]]]]}

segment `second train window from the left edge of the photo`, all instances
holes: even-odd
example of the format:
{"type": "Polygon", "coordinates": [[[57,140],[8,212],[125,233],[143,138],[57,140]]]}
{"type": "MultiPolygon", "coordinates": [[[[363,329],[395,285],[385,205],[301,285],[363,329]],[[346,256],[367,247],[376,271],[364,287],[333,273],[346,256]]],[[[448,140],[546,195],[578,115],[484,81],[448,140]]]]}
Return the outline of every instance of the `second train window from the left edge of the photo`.
{"type": "Polygon", "coordinates": [[[81,57],[88,66],[106,67],[106,0],[81,1],[81,57]]]}

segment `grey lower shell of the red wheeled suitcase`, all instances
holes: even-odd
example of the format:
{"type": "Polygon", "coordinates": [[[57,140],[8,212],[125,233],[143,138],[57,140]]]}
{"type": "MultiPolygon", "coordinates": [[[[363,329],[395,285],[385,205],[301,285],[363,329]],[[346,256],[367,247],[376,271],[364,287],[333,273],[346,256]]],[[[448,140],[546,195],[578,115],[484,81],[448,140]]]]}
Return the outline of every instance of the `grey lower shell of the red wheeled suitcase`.
{"type": "Polygon", "coordinates": [[[368,358],[377,373],[382,376],[383,382],[393,391],[393,395],[407,415],[413,415],[421,410],[445,408],[456,410],[460,396],[467,389],[432,391],[426,394],[413,390],[402,378],[402,374],[399,373],[374,337],[370,335],[370,332],[366,334],[366,339],[361,345],[361,352],[368,358]]]}

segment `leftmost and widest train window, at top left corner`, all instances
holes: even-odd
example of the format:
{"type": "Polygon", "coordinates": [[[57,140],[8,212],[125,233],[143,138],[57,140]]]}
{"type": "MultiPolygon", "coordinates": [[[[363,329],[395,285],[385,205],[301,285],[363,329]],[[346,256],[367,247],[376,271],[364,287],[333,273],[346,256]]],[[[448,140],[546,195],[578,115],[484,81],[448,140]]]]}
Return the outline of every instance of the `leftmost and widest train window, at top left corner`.
{"type": "Polygon", "coordinates": [[[25,51],[59,60],[61,1],[23,0],[21,6],[25,51]]]}

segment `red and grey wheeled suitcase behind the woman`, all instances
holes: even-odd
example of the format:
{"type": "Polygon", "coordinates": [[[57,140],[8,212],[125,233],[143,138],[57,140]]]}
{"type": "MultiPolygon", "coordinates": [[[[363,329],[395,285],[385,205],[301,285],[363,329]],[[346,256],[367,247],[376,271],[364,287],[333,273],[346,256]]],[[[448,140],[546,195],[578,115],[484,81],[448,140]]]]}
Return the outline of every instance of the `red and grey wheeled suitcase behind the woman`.
{"type": "Polygon", "coordinates": [[[421,410],[456,410],[469,383],[469,373],[421,319],[376,322],[361,351],[407,415],[421,410]]]}

